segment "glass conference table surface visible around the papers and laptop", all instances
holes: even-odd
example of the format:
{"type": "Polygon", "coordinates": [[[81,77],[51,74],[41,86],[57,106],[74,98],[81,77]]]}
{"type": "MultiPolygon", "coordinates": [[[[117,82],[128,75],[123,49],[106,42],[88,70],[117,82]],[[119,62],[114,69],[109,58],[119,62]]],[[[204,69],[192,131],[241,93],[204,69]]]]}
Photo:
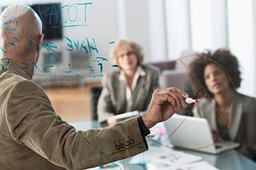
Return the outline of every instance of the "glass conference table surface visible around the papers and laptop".
{"type": "MultiPolygon", "coordinates": [[[[73,125],[77,130],[85,131],[91,128],[102,128],[100,123],[95,121],[88,121],[88,122],[69,122],[69,124],[73,125]]],[[[148,139],[147,139],[148,140],[148,139]]],[[[160,144],[153,143],[151,140],[148,140],[149,145],[149,152],[151,147],[154,148],[155,152],[158,152],[156,147],[162,147],[160,144]],[[152,146],[154,145],[154,146],[152,146]],[[156,146],[156,147],[155,147],[156,146]],[[156,150],[155,150],[156,148],[156,150]]],[[[160,150],[160,149],[159,149],[160,150]]],[[[174,149],[174,150],[181,150],[181,149],[174,149]]],[[[202,161],[206,161],[207,163],[211,164],[213,167],[217,167],[221,170],[255,170],[256,169],[256,162],[248,159],[246,156],[241,155],[236,150],[228,150],[217,155],[207,154],[195,150],[182,150],[184,153],[188,153],[192,156],[200,156],[202,161]]],[[[122,164],[122,169],[131,169],[131,170],[145,170],[148,169],[145,166],[145,163],[141,164],[131,164],[131,158],[126,158],[120,163],[122,164]]],[[[99,167],[98,169],[102,169],[99,167]]],[[[117,168],[118,169],[118,168],[117,168]]],[[[189,168],[188,168],[189,169],[189,168]]]]}

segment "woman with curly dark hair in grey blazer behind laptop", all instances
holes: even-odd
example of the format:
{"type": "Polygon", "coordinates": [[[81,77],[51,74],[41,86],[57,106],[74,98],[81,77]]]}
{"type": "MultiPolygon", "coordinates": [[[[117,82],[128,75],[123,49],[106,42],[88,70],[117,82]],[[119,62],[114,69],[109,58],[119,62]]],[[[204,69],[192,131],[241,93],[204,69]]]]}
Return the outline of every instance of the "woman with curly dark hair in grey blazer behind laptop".
{"type": "Polygon", "coordinates": [[[220,48],[198,54],[189,66],[194,87],[205,92],[194,116],[207,119],[214,139],[240,143],[237,150],[256,161],[256,99],[236,91],[241,83],[236,56],[220,48]]]}

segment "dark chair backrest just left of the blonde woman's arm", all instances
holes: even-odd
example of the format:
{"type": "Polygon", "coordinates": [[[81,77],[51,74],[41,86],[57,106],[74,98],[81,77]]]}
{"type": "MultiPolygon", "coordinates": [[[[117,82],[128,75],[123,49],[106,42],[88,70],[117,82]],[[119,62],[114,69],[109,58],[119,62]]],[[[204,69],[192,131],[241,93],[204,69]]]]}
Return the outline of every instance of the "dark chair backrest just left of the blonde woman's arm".
{"type": "Polygon", "coordinates": [[[102,94],[102,87],[90,88],[90,110],[91,110],[91,118],[93,121],[98,120],[97,105],[98,105],[98,100],[101,94],[102,94]]]}

